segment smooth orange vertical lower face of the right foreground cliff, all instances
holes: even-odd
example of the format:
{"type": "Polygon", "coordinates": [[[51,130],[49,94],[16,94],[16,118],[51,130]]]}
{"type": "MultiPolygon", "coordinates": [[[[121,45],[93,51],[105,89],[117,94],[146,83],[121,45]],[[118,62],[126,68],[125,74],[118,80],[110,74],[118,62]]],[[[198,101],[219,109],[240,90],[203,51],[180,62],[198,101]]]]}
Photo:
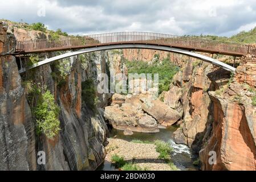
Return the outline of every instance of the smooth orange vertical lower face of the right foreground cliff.
{"type": "Polygon", "coordinates": [[[203,170],[256,169],[255,107],[243,106],[211,94],[214,102],[213,134],[200,151],[203,170]],[[216,151],[217,162],[208,163],[209,152],[216,151]]]}

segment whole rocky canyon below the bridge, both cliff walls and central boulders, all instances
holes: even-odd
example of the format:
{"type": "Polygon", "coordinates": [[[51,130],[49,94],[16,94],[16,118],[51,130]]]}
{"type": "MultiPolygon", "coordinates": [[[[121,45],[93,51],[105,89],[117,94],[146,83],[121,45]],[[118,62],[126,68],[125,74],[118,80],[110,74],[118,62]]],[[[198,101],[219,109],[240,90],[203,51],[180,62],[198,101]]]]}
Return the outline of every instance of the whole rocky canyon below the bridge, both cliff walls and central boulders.
{"type": "Polygon", "coordinates": [[[107,153],[108,125],[127,135],[176,125],[174,141],[189,146],[202,170],[255,171],[255,55],[242,57],[234,75],[190,57],[149,49],[92,52],[19,75],[15,57],[2,53],[14,48],[15,39],[42,38],[50,35],[0,24],[1,170],[94,170],[107,153]],[[127,75],[125,60],[152,64],[156,55],[160,62],[168,57],[180,67],[159,97],[147,90],[127,96],[96,94],[96,105],[88,99],[100,73],[127,75]],[[30,80],[47,86],[60,108],[60,131],[52,139],[36,134],[33,109],[38,96],[24,86],[30,80]],[[36,163],[38,151],[46,152],[46,165],[36,163]],[[216,164],[208,162],[210,151],[216,152],[216,164]]]}

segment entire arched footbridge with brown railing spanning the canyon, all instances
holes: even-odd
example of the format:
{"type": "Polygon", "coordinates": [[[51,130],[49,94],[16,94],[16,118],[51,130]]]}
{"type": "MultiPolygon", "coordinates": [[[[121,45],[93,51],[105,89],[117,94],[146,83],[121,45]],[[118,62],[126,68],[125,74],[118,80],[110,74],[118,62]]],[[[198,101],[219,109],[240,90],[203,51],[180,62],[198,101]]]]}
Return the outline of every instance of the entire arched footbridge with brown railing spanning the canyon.
{"type": "Polygon", "coordinates": [[[18,41],[16,42],[15,54],[21,55],[27,53],[67,50],[74,51],[40,61],[30,68],[23,68],[19,71],[22,73],[27,69],[35,68],[66,57],[87,52],[120,48],[147,48],[181,53],[183,55],[207,61],[208,63],[217,65],[228,71],[235,71],[235,68],[196,52],[217,53],[241,57],[255,51],[252,46],[246,44],[220,42],[217,40],[195,38],[191,36],[176,36],[152,32],[115,32],[86,36],[67,36],[58,39],[18,41]]]}

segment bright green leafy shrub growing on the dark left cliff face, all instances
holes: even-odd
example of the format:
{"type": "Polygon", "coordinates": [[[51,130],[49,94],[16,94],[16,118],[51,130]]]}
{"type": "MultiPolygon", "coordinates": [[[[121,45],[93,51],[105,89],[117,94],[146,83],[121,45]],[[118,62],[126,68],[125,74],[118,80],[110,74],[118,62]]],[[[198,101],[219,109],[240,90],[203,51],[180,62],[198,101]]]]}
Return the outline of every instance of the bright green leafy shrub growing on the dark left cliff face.
{"type": "Polygon", "coordinates": [[[60,130],[59,107],[55,105],[54,96],[49,90],[43,93],[33,110],[36,118],[36,134],[45,134],[52,139],[60,130]]]}

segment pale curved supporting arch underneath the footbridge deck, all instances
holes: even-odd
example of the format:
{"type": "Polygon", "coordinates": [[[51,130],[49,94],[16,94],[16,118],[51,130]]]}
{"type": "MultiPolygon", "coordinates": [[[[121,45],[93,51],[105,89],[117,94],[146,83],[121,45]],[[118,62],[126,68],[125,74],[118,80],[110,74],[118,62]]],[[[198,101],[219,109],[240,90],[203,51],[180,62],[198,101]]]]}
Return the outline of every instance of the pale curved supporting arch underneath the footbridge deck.
{"type": "Polygon", "coordinates": [[[81,54],[88,53],[88,52],[105,51],[105,50],[109,50],[109,49],[125,49],[125,48],[155,49],[155,50],[159,50],[159,51],[180,53],[182,55],[186,55],[186,56],[194,57],[196,59],[200,59],[202,61],[206,61],[210,64],[216,65],[217,67],[226,69],[227,71],[230,71],[230,72],[235,71],[234,67],[231,67],[228,64],[222,63],[221,61],[218,61],[217,59],[213,59],[212,57],[201,55],[200,53],[196,53],[196,52],[186,51],[183,49],[178,49],[178,48],[173,48],[173,47],[168,47],[168,46],[156,46],[156,45],[152,45],[152,44],[116,44],[116,45],[109,45],[109,46],[91,47],[91,48],[81,49],[79,51],[64,53],[63,55],[54,56],[49,59],[39,61],[38,63],[32,65],[29,68],[22,68],[19,70],[19,73],[26,72],[29,69],[40,67],[41,65],[52,63],[57,60],[62,60],[67,57],[81,55],[81,54]]]}

